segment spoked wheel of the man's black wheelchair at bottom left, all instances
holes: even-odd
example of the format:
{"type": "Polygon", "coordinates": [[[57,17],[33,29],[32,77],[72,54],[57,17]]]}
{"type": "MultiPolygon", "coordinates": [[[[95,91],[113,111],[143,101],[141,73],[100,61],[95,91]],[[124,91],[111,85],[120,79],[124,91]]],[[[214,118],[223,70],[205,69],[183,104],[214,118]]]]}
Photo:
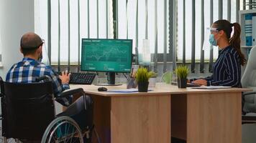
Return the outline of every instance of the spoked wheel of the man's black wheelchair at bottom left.
{"type": "Polygon", "coordinates": [[[41,143],[83,143],[83,135],[78,124],[70,117],[54,119],[42,136],[41,143]]]}

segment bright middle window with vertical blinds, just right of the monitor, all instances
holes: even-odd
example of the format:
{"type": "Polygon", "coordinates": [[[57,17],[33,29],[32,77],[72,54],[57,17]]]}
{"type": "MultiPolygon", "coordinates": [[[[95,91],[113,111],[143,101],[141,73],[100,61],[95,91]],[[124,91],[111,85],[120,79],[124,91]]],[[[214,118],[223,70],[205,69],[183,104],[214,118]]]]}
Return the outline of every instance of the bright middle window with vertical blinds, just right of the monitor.
{"type": "MultiPolygon", "coordinates": [[[[164,1],[157,1],[157,11],[155,11],[155,0],[138,1],[138,23],[136,21],[137,0],[118,0],[118,37],[119,39],[126,39],[128,32],[128,39],[133,39],[133,47],[136,46],[136,26],[138,26],[138,49],[142,52],[143,39],[149,39],[150,52],[155,53],[155,12],[157,12],[157,53],[163,53],[164,49],[164,1]],[[147,4],[146,4],[147,1],[147,4]],[[148,21],[146,22],[146,15],[148,21]],[[137,24],[137,25],[136,25],[137,24]],[[147,29],[146,29],[147,24],[147,29]],[[148,38],[146,37],[148,32],[148,38]]],[[[167,5],[168,6],[168,1],[167,5]]],[[[167,7],[167,14],[168,7],[167,7]]],[[[168,17],[168,15],[167,15],[168,17]]],[[[167,19],[166,17],[166,19],[167,19]]],[[[167,21],[168,23],[168,21],[167,21]]],[[[168,25],[168,24],[167,24],[168,25]]],[[[166,29],[167,33],[168,28],[166,29]]],[[[167,37],[169,37],[167,35],[167,37]]],[[[168,41],[168,39],[167,39],[168,41]]],[[[167,44],[168,45],[168,44],[167,44]]],[[[169,51],[169,50],[167,50],[169,51]]]]}

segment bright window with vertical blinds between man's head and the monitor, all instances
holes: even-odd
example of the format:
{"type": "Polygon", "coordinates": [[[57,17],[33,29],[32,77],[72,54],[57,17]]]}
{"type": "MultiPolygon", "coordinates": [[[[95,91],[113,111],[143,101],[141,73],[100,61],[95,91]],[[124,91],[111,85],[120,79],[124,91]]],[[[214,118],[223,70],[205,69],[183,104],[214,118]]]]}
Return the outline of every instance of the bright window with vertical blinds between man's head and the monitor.
{"type": "MultiPolygon", "coordinates": [[[[68,62],[68,31],[70,31],[70,63],[78,63],[78,15],[80,14],[80,38],[112,38],[113,25],[111,24],[111,1],[99,0],[99,30],[97,29],[97,1],[90,0],[58,0],[51,1],[51,64],[58,63],[58,52],[60,52],[61,64],[68,62]],[[88,6],[89,1],[89,6],[88,6]],[[80,12],[78,14],[78,2],[80,12]],[[60,5],[59,5],[60,4],[60,5]],[[70,25],[68,26],[68,6],[70,8],[70,25]],[[108,7],[107,7],[108,6],[108,7]],[[60,7],[60,9],[59,9],[60,7]],[[89,18],[88,18],[89,7],[89,18]],[[106,13],[106,8],[109,12],[106,13]],[[60,10],[60,11],[59,11],[60,10]],[[60,13],[59,13],[60,12],[60,13]],[[60,14],[60,16],[59,16],[60,14]],[[108,15],[109,19],[106,19],[108,15]],[[59,25],[60,18],[60,25],[59,25]],[[89,22],[88,22],[89,21],[89,22]],[[106,24],[107,23],[107,24],[106,24]],[[108,27],[106,27],[108,25],[108,27]],[[60,36],[59,36],[60,28],[60,36]],[[89,32],[88,32],[89,29],[89,32]],[[99,32],[99,33],[98,33],[99,32]],[[108,33],[108,36],[106,34],[108,33]],[[99,34],[99,35],[98,35],[99,34]],[[60,46],[59,46],[60,41],[60,46]],[[58,50],[60,48],[60,50],[58,50]]],[[[45,39],[45,49],[47,48],[47,0],[35,1],[35,32],[42,39],[45,39]]],[[[81,43],[80,43],[81,45],[81,43]]],[[[81,49],[80,49],[81,50],[81,49]]],[[[49,51],[48,51],[49,52],[49,51]]],[[[47,54],[43,54],[43,57],[47,54]]],[[[43,61],[45,61],[43,59],[43,61]]]]}

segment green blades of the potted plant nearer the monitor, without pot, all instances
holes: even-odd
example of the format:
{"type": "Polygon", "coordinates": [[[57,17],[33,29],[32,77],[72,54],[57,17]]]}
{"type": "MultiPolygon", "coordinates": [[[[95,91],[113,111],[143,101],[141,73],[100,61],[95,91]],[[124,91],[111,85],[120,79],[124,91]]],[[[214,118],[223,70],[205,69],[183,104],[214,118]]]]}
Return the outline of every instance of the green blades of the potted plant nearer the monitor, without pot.
{"type": "Polygon", "coordinates": [[[135,79],[137,82],[148,82],[148,79],[150,79],[150,77],[152,77],[152,75],[153,75],[152,71],[147,71],[146,68],[140,67],[137,70],[135,79]]]}

